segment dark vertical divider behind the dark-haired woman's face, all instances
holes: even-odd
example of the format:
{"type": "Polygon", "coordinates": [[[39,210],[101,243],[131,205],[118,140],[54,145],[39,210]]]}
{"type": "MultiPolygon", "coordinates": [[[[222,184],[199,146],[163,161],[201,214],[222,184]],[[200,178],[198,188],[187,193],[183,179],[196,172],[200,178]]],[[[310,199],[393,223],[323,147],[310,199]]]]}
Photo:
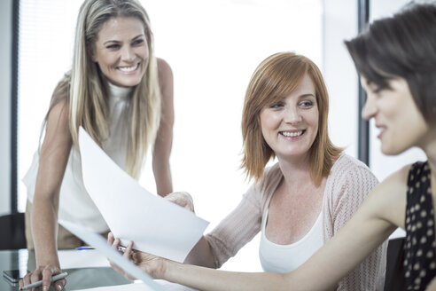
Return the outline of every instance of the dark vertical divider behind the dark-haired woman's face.
{"type": "MultiPolygon", "coordinates": [[[[370,20],[370,0],[357,0],[357,28],[359,33],[363,31],[368,26],[370,20]]],[[[358,119],[358,146],[357,146],[357,157],[359,160],[370,166],[370,122],[365,121],[361,117],[362,108],[366,101],[366,93],[362,89],[360,78],[359,81],[359,112],[357,114],[358,119]]]]}

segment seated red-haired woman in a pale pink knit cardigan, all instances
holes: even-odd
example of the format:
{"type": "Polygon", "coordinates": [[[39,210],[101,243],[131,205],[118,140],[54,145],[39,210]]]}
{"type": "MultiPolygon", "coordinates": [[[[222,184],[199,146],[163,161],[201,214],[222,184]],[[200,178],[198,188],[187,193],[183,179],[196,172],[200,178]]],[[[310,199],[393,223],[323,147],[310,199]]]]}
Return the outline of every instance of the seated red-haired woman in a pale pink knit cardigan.
{"type": "MultiPolygon", "coordinates": [[[[261,232],[263,270],[284,273],[339,232],[378,181],[366,165],[332,145],[328,110],[323,76],[310,59],[281,52],[261,62],[246,90],[242,117],[243,167],[256,183],[185,263],[220,268],[261,232]],[[276,164],[264,169],[273,157],[276,164]]],[[[333,289],[383,289],[385,250],[386,243],[333,289]]]]}

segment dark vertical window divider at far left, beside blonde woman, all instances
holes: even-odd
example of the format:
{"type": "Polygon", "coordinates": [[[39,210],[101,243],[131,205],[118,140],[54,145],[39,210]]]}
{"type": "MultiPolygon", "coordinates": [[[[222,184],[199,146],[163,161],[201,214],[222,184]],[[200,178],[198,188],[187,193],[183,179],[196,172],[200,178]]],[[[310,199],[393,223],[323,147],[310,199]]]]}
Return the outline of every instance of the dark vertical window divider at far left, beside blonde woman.
{"type": "Polygon", "coordinates": [[[11,212],[18,212],[19,0],[12,0],[11,212]]]}

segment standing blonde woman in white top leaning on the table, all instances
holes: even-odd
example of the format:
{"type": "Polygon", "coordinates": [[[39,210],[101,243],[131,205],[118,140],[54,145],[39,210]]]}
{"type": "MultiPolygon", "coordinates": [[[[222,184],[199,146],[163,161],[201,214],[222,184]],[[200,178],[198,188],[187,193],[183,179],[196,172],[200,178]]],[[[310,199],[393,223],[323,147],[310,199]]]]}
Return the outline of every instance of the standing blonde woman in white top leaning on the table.
{"type": "MultiPolygon", "coordinates": [[[[138,177],[147,150],[157,192],[172,192],[169,155],[174,123],[173,76],[153,51],[147,13],[136,0],[86,0],[80,9],[73,67],[58,83],[45,118],[43,144],[27,185],[27,247],[36,270],[24,283],[58,273],[58,248],[82,241],[58,226],[58,218],[108,227],[82,184],[78,129],[82,126],[113,161],[138,177]]],[[[65,280],[56,283],[61,289],[65,280]]],[[[44,289],[45,290],[45,289],[44,289]]]]}

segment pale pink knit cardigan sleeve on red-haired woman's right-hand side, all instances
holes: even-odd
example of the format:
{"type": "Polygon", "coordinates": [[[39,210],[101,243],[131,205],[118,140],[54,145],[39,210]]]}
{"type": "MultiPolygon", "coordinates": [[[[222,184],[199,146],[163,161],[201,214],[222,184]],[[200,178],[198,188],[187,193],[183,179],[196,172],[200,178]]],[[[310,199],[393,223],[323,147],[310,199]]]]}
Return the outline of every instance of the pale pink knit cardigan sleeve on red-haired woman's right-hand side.
{"type": "MultiPolygon", "coordinates": [[[[323,201],[324,243],[330,240],[378,184],[361,161],[342,155],[331,171],[323,201]]],[[[387,241],[339,281],[337,290],[383,290],[387,241]]]]}

